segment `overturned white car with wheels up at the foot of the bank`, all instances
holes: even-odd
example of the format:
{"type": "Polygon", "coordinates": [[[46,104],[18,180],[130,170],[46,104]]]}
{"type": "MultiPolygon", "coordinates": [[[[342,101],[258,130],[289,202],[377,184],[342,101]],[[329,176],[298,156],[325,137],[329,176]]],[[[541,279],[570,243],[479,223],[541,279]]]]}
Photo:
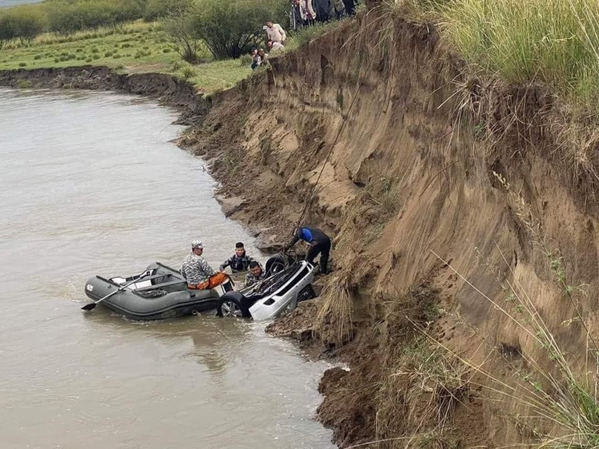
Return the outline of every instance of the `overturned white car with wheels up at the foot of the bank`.
{"type": "Polygon", "coordinates": [[[316,297],[311,285],[314,270],[308,261],[273,256],[266,262],[264,280],[219,298],[217,315],[264,320],[291,311],[300,301],[316,297]]]}

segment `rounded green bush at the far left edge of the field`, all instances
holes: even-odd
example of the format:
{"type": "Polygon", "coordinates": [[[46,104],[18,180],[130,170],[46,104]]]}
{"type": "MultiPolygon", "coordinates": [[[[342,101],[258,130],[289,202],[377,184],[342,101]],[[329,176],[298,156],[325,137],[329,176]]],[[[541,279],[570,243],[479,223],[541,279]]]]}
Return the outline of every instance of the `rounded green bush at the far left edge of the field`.
{"type": "Polygon", "coordinates": [[[39,7],[17,6],[0,10],[0,47],[11,39],[32,41],[45,28],[45,17],[39,7]]]}

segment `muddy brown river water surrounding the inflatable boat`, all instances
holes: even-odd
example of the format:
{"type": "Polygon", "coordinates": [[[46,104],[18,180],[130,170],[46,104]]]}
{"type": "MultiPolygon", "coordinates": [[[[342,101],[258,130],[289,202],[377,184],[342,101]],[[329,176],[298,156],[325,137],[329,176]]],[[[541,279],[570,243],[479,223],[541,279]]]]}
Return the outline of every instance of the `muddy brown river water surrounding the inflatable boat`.
{"type": "Polygon", "coordinates": [[[134,96],[0,89],[0,447],[330,448],[314,421],[328,365],[212,314],[132,322],[80,309],[94,274],[213,267],[248,232],[176,111],[134,96]]]}

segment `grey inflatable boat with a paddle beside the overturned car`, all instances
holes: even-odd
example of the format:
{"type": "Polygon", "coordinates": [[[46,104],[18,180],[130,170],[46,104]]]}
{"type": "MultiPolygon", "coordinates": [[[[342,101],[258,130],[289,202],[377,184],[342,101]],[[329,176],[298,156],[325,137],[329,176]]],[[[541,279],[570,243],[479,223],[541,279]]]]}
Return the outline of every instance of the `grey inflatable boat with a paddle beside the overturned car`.
{"type": "Polygon", "coordinates": [[[188,289],[178,270],[159,262],[136,276],[94,276],[85,283],[85,294],[94,301],[112,294],[99,304],[132,320],[162,320],[209,311],[216,309],[220,298],[215,289],[188,289]]]}

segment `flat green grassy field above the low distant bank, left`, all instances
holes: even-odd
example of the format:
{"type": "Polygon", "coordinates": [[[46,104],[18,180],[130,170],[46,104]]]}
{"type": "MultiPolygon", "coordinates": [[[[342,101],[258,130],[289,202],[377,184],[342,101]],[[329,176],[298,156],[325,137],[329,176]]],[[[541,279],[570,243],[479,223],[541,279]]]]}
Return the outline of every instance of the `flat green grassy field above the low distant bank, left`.
{"type": "Polygon", "coordinates": [[[171,47],[156,23],[134,22],[74,34],[41,34],[31,43],[12,41],[0,50],[0,70],[106,65],[119,72],[158,72],[188,79],[198,90],[211,94],[229,89],[251,74],[239,60],[190,65],[171,47]]]}

